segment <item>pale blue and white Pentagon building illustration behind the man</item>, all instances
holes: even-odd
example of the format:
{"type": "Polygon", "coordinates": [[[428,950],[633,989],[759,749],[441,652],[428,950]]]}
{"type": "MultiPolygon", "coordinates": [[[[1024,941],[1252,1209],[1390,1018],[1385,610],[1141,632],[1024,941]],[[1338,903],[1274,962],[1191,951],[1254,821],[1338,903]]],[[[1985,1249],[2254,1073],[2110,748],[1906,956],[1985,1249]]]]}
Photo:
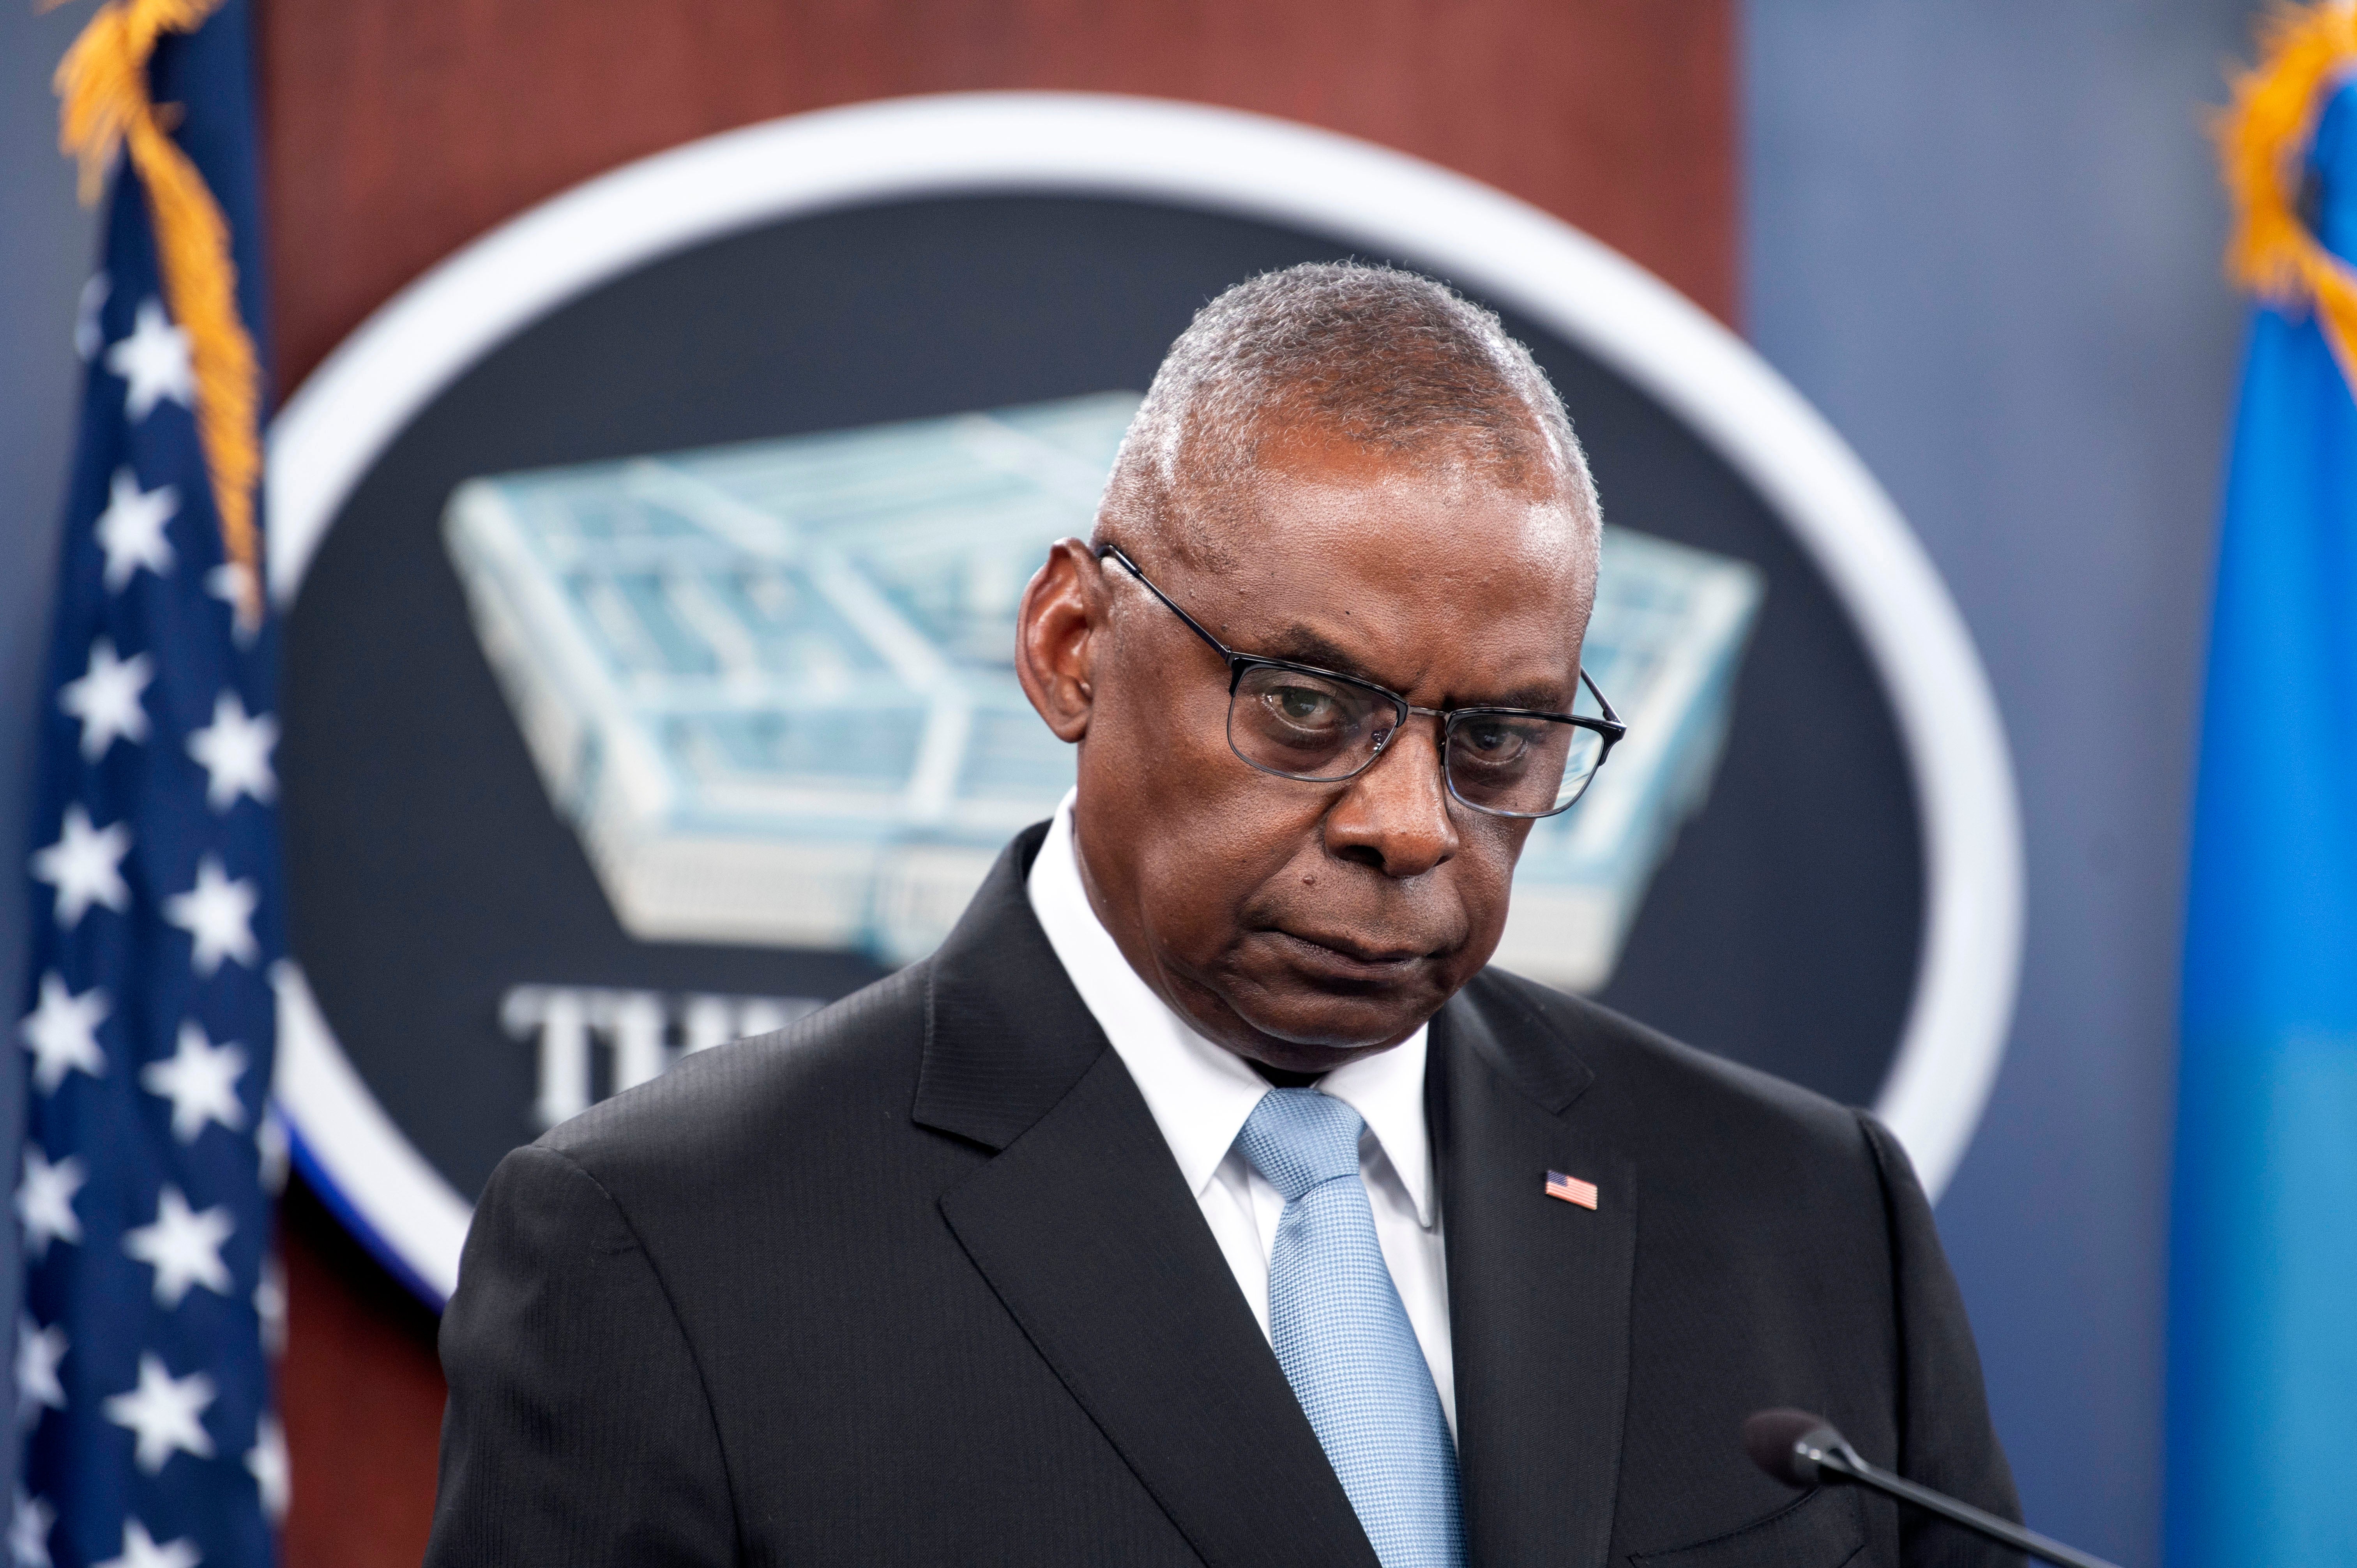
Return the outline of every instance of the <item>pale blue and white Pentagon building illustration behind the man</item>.
{"type": "MultiPolygon", "coordinates": [[[[1014,674],[1138,394],[471,479],[443,519],[549,802],[643,941],[929,953],[1072,785],[1014,674]]],[[[1537,825],[1499,962],[1593,988],[1718,759],[1758,573],[1607,531],[1629,740],[1537,825]]],[[[1270,788],[1285,788],[1270,783],[1270,788]]]]}

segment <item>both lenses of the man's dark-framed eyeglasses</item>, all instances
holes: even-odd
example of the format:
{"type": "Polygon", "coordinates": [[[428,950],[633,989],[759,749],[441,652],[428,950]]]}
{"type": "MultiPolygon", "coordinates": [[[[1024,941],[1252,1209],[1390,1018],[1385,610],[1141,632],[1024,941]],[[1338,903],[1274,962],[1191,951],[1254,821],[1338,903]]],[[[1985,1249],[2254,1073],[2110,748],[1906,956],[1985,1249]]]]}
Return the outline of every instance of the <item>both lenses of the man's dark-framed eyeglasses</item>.
{"type": "MultiPolygon", "coordinates": [[[[1398,717],[1388,698],[1351,681],[1249,665],[1228,703],[1228,743],[1268,773],[1336,780],[1374,759],[1398,717]]],[[[1475,710],[1447,722],[1450,788],[1485,811],[1560,811],[1586,790],[1603,752],[1603,736],[1560,719],[1475,710]]]]}

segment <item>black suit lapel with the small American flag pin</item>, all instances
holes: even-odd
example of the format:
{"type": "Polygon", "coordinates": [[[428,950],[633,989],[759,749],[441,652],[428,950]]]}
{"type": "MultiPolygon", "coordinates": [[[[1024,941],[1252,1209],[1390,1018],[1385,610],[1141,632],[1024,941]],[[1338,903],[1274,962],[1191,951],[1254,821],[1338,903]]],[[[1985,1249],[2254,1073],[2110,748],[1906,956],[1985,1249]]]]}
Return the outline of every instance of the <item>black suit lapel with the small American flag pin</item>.
{"type": "Polygon", "coordinates": [[[1589,1070],[1527,1033],[1492,1028],[1459,995],[1433,1021],[1426,1075],[1466,1559],[1600,1568],[1629,1394],[1636,1177],[1600,1115],[1582,1115],[1589,1070]],[[1551,1170],[1593,1181],[1596,1210],[1549,1198],[1551,1170]]]}

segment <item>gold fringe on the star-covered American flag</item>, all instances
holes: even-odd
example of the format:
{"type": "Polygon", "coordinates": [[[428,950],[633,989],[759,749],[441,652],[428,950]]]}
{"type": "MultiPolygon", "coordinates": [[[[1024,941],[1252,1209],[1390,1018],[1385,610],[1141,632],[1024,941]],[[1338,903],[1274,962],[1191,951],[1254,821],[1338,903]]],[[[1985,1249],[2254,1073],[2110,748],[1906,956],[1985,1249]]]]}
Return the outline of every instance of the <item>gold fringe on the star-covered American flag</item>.
{"type": "Polygon", "coordinates": [[[172,106],[148,101],[148,54],[160,33],[193,33],[222,0],[106,0],[57,66],[64,153],[82,165],[82,200],[106,189],[115,149],[130,149],[156,224],[165,307],[189,335],[196,429],[205,448],[222,549],[238,571],[238,618],[262,622],[262,549],[255,486],[262,481],[262,365],[238,318],[238,266],[229,222],[189,153],[172,141],[172,106]]]}

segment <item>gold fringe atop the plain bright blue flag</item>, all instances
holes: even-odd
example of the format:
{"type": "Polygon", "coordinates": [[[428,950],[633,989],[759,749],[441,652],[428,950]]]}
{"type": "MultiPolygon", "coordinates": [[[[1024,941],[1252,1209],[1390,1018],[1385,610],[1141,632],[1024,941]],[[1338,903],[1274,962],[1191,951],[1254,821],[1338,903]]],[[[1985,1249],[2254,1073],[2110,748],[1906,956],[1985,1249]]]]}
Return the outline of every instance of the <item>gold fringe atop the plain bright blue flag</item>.
{"type": "Polygon", "coordinates": [[[2225,271],[2277,309],[2312,309],[2341,380],[2357,389],[2357,274],[2298,210],[2317,116],[2357,68],[2357,5],[2279,7],[2260,24],[2258,42],[2258,66],[2234,78],[2234,104],[2213,125],[2234,203],[2225,271]]]}

